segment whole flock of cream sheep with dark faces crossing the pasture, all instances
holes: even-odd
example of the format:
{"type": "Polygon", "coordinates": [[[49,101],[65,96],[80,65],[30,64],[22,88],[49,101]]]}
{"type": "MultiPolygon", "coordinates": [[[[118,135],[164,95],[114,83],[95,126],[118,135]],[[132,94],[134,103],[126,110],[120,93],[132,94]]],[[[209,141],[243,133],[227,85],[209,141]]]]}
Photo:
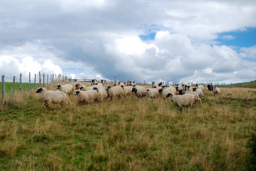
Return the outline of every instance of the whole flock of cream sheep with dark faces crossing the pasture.
{"type": "MultiPolygon", "coordinates": [[[[213,91],[214,95],[219,95],[221,91],[219,88],[213,85],[207,85],[209,91],[213,91]]],[[[90,87],[86,87],[81,84],[76,84],[75,88],[71,84],[57,84],[57,91],[47,90],[44,87],[39,87],[37,93],[40,93],[43,101],[45,101],[46,108],[49,107],[51,103],[66,103],[69,107],[73,104],[69,100],[70,95],[77,97],[77,104],[84,103],[90,104],[94,102],[102,102],[105,99],[114,97],[125,97],[127,95],[135,95],[138,98],[149,97],[149,98],[159,98],[163,97],[165,99],[170,99],[171,102],[177,106],[181,111],[182,107],[190,108],[195,104],[199,103],[202,106],[202,100],[205,99],[204,91],[205,88],[202,85],[195,84],[190,85],[164,85],[162,83],[155,84],[152,82],[151,88],[145,88],[143,86],[138,86],[135,82],[130,82],[127,80],[126,84],[121,82],[114,82],[114,86],[103,87],[102,83],[91,83],[90,87]],[[69,95],[69,96],[67,96],[69,95]]]]}

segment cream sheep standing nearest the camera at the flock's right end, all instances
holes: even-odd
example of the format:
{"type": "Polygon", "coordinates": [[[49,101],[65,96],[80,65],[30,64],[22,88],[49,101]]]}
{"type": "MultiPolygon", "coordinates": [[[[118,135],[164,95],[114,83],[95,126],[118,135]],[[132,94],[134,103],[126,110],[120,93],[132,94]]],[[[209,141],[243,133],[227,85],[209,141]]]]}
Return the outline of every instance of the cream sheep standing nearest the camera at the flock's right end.
{"type": "Polygon", "coordinates": [[[167,93],[166,97],[173,102],[175,106],[177,106],[182,111],[182,106],[189,106],[187,112],[190,111],[190,108],[193,107],[195,103],[195,96],[191,93],[187,93],[185,95],[175,96],[174,93],[167,93]]]}

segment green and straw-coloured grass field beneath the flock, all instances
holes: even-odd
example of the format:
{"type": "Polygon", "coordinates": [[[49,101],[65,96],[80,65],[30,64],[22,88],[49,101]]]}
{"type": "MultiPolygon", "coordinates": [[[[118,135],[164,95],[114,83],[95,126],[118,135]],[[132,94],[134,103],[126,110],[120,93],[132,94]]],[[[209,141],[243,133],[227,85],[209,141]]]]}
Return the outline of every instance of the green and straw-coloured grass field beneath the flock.
{"type": "Polygon", "coordinates": [[[14,102],[7,94],[0,170],[245,170],[256,93],[220,89],[218,97],[206,89],[203,106],[189,113],[162,98],[46,109],[34,90],[17,91],[14,102]]]}

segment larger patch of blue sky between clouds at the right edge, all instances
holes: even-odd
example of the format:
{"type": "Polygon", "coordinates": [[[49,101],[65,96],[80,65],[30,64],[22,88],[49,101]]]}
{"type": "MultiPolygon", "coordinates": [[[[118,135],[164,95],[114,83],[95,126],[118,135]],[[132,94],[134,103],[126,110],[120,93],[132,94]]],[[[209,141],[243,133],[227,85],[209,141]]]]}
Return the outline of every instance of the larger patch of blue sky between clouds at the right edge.
{"type": "Polygon", "coordinates": [[[251,47],[256,44],[256,28],[246,28],[244,31],[231,31],[219,34],[217,39],[226,46],[251,47]]]}

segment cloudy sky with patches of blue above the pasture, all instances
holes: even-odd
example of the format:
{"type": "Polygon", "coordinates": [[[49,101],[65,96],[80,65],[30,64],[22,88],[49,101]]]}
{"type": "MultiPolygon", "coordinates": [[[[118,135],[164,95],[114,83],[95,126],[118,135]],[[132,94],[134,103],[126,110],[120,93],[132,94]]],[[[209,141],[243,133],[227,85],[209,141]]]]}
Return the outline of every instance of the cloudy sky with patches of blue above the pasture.
{"type": "Polygon", "coordinates": [[[0,75],[250,82],[255,8],[255,0],[0,0],[0,75]]]}

